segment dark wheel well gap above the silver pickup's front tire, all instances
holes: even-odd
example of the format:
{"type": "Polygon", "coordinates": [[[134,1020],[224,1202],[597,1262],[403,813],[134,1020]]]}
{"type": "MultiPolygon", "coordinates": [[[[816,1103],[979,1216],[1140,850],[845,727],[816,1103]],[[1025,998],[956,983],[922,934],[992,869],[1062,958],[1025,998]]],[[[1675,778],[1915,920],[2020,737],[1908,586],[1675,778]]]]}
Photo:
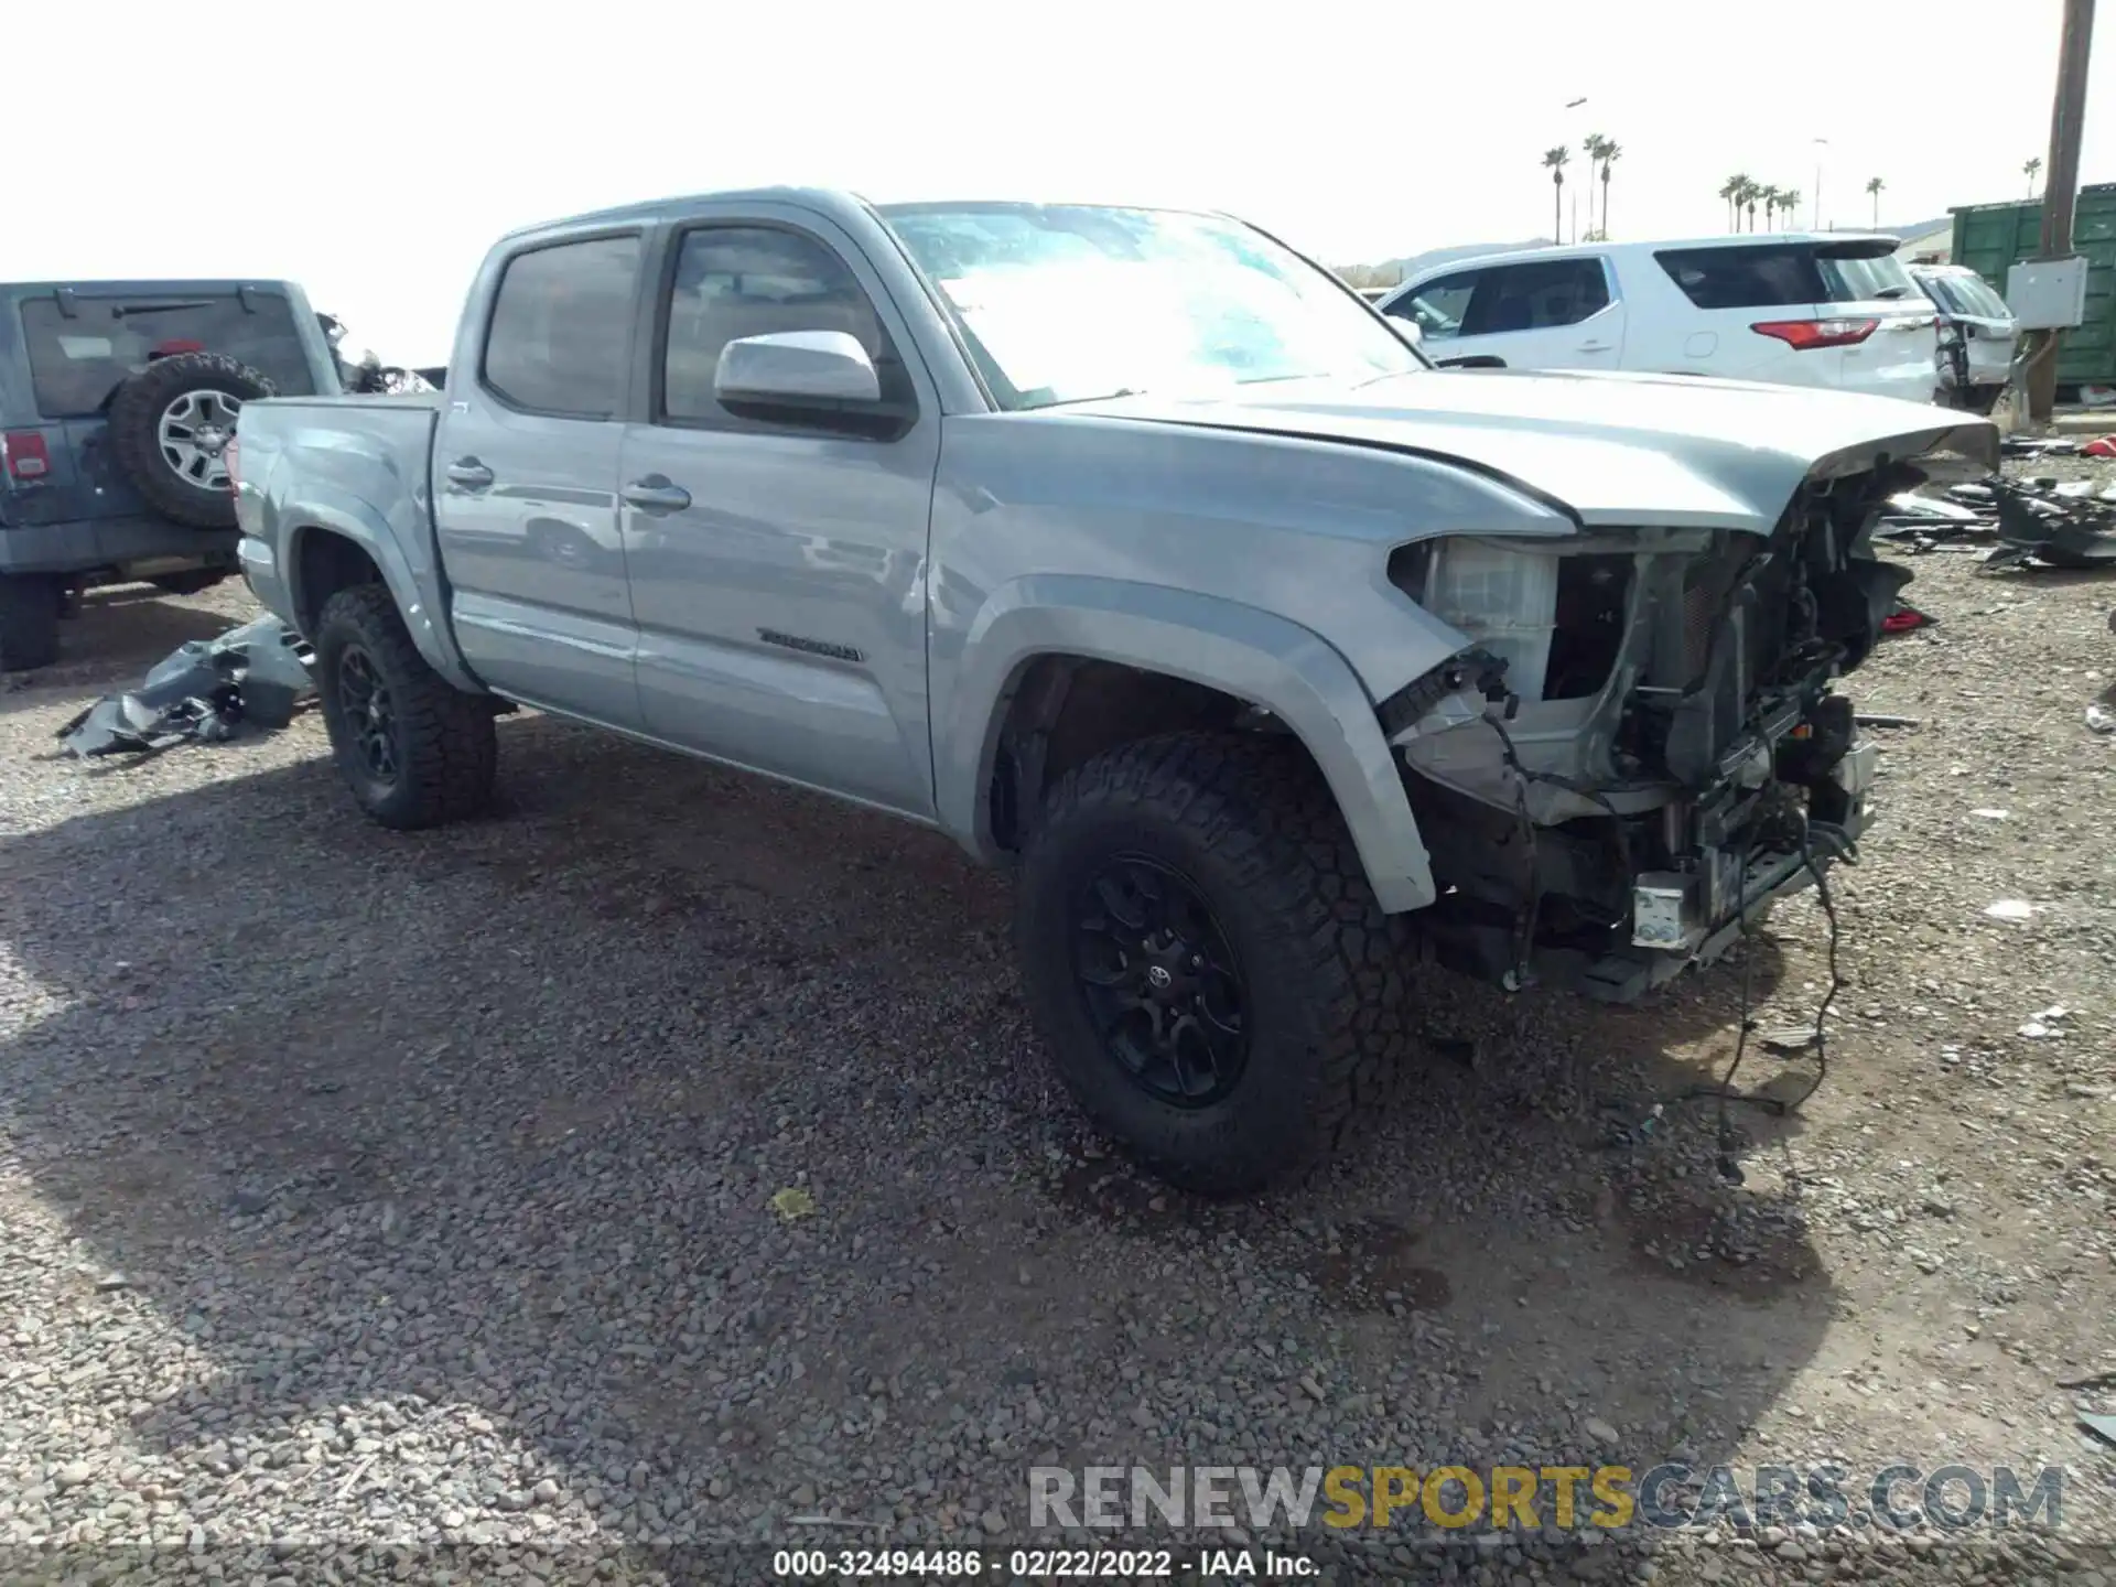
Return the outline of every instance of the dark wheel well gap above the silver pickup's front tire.
{"type": "Polygon", "coordinates": [[[1278,717],[1206,683],[1090,656],[1037,656],[999,728],[986,789],[992,840],[1020,849],[1043,796],[1075,766],[1117,745],[1200,728],[1278,732],[1299,745],[1278,717]]]}

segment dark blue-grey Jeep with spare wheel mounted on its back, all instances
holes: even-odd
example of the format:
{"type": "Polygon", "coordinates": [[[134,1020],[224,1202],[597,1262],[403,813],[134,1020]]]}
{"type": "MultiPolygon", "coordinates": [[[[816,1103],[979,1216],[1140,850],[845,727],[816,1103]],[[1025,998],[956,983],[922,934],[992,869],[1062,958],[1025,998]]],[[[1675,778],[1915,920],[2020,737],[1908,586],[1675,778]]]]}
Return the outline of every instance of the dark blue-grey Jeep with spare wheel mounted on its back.
{"type": "Polygon", "coordinates": [[[0,671],[53,662],[80,590],[231,578],[243,402],[339,389],[292,281],[0,284],[0,671]]]}

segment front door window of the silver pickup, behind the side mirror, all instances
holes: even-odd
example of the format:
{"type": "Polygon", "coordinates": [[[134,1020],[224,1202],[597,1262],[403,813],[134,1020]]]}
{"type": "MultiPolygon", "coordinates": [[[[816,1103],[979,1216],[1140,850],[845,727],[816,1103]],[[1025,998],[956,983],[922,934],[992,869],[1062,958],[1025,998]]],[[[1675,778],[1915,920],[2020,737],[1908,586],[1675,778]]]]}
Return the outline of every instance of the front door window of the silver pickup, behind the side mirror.
{"type": "Polygon", "coordinates": [[[851,267],[813,237],[777,226],[683,235],[669,294],[660,415],[738,423],[713,396],[719,351],[738,336],[844,330],[868,349],[887,411],[914,411],[910,377],[851,267]]]}

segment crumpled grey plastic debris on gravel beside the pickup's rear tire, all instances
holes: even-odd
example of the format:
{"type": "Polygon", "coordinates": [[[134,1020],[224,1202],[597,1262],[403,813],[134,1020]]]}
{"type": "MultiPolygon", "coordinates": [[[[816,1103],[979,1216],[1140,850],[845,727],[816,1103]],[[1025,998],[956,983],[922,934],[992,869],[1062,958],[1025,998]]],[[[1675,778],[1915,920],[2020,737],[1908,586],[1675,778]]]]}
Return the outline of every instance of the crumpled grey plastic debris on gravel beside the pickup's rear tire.
{"type": "Polygon", "coordinates": [[[220,639],[193,639],[154,662],[146,681],[108,694],[59,728],[59,745],[91,755],[150,755],[186,741],[222,743],[241,726],[284,728],[315,690],[309,645],[279,618],[220,639]]]}

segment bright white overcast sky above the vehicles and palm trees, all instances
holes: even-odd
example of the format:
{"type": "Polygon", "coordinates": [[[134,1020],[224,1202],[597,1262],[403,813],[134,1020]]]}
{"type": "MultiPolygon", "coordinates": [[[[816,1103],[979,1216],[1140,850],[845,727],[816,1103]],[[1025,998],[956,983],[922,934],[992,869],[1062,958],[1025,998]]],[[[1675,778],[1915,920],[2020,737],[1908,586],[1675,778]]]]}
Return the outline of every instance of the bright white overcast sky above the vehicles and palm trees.
{"type": "MultiPolygon", "coordinates": [[[[2025,197],[2059,30],[2059,0],[32,13],[66,47],[13,40],[0,279],[294,277],[406,364],[449,355],[497,233],[724,186],[1191,203],[1369,262],[1549,235],[1543,150],[1583,171],[1604,133],[1619,239],[1720,231],[1733,171],[1811,201],[1818,157],[1824,224],[1871,222],[1871,176],[1907,224],[2025,197]]],[[[2084,182],[2116,180],[2101,32],[2084,182]]]]}

